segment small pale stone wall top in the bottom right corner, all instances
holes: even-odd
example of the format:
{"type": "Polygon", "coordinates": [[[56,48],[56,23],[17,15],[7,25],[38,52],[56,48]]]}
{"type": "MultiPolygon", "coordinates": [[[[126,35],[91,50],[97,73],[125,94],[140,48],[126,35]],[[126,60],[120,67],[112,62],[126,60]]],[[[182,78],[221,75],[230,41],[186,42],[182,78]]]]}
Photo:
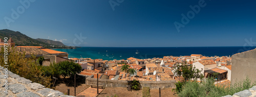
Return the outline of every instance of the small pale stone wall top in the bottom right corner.
{"type": "Polygon", "coordinates": [[[232,95],[226,95],[224,97],[245,97],[245,96],[256,96],[256,86],[253,86],[252,88],[234,93],[233,96],[232,95]]]}

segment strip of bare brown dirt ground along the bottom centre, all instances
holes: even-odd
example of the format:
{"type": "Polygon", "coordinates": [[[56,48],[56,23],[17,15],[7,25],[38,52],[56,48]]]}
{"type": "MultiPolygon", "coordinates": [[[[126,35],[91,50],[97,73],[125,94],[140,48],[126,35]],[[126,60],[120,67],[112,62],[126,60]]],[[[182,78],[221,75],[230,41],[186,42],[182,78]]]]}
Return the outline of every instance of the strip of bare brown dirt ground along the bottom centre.
{"type": "MultiPolygon", "coordinates": [[[[113,87],[106,87],[105,89],[103,89],[103,91],[97,96],[97,97],[105,97],[105,96],[114,96],[114,95],[118,95],[119,97],[122,96],[134,96],[134,97],[141,97],[142,96],[142,90],[138,90],[138,91],[129,91],[126,88],[113,88],[113,87]]],[[[152,89],[150,90],[150,94],[151,96],[159,96],[159,89],[152,89]]],[[[172,88],[170,89],[163,89],[161,90],[161,96],[168,96],[168,97],[172,97],[172,96],[176,96],[175,93],[172,91],[172,88]]]]}

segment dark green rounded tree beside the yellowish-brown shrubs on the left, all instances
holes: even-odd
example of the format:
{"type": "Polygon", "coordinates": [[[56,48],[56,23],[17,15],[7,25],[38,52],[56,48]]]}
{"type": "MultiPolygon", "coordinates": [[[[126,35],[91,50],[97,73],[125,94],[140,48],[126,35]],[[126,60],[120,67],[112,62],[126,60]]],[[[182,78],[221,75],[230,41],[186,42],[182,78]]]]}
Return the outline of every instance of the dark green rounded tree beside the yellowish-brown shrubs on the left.
{"type": "Polygon", "coordinates": [[[61,61],[57,63],[59,66],[60,74],[64,78],[67,76],[73,76],[76,73],[79,73],[82,67],[78,63],[74,63],[73,61],[61,61]]]}

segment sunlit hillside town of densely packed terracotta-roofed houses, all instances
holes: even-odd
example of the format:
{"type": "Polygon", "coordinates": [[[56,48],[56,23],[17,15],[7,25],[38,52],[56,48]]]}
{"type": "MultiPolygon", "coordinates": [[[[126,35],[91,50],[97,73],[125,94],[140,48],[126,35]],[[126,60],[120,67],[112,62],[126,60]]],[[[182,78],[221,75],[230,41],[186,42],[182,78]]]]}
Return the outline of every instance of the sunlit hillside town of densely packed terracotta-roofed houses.
{"type": "MultiPolygon", "coordinates": [[[[3,39],[1,44],[3,44],[3,39]]],[[[10,38],[9,46],[15,46],[15,43],[10,38]]],[[[190,66],[201,70],[201,74],[205,78],[218,72],[217,83],[230,83],[231,80],[231,57],[230,56],[203,56],[200,54],[191,54],[189,56],[163,56],[163,58],[148,58],[137,59],[127,58],[122,60],[102,60],[91,58],[68,58],[68,53],[51,50],[42,46],[15,46],[18,52],[26,52],[26,57],[31,54],[36,57],[43,56],[45,61],[44,66],[49,66],[53,62],[74,61],[81,65],[82,70],[80,76],[89,77],[99,74],[99,79],[109,80],[129,80],[129,77],[138,81],[170,81],[177,80],[174,75],[176,67],[190,66]],[[129,75],[121,70],[122,65],[127,64],[130,68],[135,69],[135,74],[129,75]]]]}

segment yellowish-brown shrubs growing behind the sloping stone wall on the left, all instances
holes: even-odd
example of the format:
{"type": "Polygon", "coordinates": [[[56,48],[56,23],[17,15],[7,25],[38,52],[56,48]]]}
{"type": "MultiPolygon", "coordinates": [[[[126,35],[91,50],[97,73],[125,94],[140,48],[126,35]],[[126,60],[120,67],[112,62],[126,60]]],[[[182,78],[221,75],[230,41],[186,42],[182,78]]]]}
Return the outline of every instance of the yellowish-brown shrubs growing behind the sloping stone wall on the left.
{"type": "MultiPolygon", "coordinates": [[[[26,58],[25,53],[17,52],[16,48],[14,47],[12,47],[11,50],[8,47],[7,51],[9,65],[8,70],[13,72],[14,74],[19,75],[20,77],[24,77],[31,80],[32,82],[42,84],[48,88],[51,86],[52,79],[43,75],[40,65],[38,66],[35,62],[35,56],[32,55],[32,57],[26,58]]],[[[3,56],[4,47],[1,48],[0,55],[0,63],[1,66],[3,66],[5,64],[3,56]]]]}

